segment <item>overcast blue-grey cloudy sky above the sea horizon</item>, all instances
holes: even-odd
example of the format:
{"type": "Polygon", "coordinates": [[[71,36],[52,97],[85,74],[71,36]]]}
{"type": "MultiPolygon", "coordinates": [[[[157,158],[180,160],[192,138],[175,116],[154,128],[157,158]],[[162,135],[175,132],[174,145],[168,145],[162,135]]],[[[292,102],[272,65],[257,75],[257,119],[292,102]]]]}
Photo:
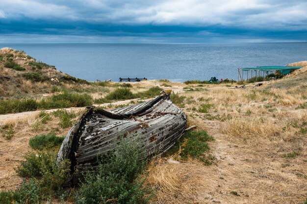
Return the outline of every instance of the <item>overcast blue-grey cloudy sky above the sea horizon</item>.
{"type": "Polygon", "coordinates": [[[0,0],[0,43],[307,42],[307,0],[0,0]]]}

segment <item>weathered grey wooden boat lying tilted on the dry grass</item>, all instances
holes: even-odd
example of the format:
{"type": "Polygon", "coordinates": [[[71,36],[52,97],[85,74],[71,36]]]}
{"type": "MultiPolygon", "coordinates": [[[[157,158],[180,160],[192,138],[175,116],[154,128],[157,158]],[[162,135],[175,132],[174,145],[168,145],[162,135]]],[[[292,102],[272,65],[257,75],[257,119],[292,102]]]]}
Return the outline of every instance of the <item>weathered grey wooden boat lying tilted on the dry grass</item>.
{"type": "Polygon", "coordinates": [[[109,112],[87,107],[65,137],[56,162],[69,159],[73,182],[77,183],[82,172],[98,165],[98,155],[113,151],[119,139],[137,137],[147,158],[166,152],[186,126],[186,115],[171,102],[169,94],[162,91],[148,102],[109,112]]]}

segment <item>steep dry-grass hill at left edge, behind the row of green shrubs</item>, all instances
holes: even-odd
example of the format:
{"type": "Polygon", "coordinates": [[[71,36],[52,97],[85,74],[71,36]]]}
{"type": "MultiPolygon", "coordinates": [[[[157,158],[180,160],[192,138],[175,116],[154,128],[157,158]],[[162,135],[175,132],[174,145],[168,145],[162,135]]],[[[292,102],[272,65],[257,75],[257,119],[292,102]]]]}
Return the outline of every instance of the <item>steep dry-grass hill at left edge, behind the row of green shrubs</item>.
{"type": "Polygon", "coordinates": [[[21,97],[59,91],[58,86],[89,84],[62,73],[54,66],[36,61],[24,51],[0,49],[0,95],[21,97]]]}

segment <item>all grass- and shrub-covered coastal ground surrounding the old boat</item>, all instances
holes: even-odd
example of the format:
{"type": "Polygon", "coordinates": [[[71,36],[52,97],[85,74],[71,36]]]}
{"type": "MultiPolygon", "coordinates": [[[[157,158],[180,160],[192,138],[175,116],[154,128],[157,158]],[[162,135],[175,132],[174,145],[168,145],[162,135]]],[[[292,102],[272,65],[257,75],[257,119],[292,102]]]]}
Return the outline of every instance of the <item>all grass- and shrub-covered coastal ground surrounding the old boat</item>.
{"type": "Polygon", "coordinates": [[[19,113],[0,115],[0,203],[306,203],[307,62],[261,87],[230,89],[237,84],[54,82],[45,72],[54,68],[24,66],[19,61],[34,59],[10,52],[1,63],[9,58],[26,70],[0,65],[1,79],[9,77],[17,90],[1,84],[0,111],[19,113]],[[26,59],[16,61],[18,56],[26,59]],[[43,81],[14,77],[39,71],[43,81]],[[172,86],[171,100],[195,129],[151,160],[138,158],[137,143],[123,144],[80,185],[64,182],[70,163],[56,167],[54,159],[84,106],[109,110],[144,102],[164,85],[172,86]]]}

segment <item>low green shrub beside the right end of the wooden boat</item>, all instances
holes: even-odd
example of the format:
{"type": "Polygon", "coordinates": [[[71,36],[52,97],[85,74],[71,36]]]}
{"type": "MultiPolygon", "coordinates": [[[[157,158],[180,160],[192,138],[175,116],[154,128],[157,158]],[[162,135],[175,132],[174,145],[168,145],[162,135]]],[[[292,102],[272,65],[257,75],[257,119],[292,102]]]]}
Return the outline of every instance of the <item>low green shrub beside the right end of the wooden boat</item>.
{"type": "Polygon", "coordinates": [[[189,157],[200,159],[205,164],[211,164],[204,155],[204,152],[209,149],[207,141],[214,138],[208,136],[205,131],[189,131],[176,141],[174,147],[170,149],[168,154],[175,155],[175,159],[187,160],[189,157]]]}

